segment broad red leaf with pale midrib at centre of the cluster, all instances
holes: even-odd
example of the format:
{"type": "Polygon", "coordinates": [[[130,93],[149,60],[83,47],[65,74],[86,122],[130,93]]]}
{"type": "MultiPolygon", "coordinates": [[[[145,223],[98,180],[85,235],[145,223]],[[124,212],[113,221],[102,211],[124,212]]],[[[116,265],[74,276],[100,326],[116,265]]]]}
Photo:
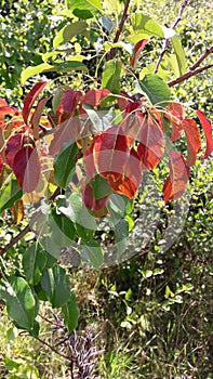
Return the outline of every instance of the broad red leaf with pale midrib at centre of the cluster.
{"type": "Polygon", "coordinates": [[[120,126],[111,127],[95,139],[93,147],[95,169],[107,179],[109,174],[123,174],[130,157],[128,139],[120,126]]]}

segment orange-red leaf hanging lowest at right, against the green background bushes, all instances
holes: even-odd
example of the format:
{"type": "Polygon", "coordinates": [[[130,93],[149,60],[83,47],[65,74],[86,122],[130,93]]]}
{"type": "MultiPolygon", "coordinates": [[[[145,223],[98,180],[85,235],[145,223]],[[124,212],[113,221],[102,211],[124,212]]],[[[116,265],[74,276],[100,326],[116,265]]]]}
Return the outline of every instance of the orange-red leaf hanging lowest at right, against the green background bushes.
{"type": "Polygon", "coordinates": [[[179,198],[186,190],[189,178],[189,168],[181,153],[169,152],[170,175],[164,182],[164,202],[179,198]]]}

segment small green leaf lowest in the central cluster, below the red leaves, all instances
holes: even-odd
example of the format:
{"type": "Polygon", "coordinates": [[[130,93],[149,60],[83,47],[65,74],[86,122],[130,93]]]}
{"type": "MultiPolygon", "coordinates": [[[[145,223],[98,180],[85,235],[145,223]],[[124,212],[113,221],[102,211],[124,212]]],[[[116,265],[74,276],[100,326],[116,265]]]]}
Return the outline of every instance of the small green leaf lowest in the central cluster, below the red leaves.
{"type": "Polygon", "coordinates": [[[82,256],[90,261],[94,269],[98,269],[104,263],[103,250],[95,240],[83,245],[82,256]]]}

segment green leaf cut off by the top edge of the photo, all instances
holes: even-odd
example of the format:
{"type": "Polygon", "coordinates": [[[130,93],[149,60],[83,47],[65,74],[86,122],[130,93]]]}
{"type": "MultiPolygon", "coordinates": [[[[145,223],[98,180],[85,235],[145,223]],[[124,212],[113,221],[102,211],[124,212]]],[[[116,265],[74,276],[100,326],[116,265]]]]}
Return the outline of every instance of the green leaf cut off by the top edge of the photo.
{"type": "Polygon", "coordinates": [[[66,0],[66,5],[75,16],[82,19],[92,18],[102,10],[101,0],[66,0]]]}

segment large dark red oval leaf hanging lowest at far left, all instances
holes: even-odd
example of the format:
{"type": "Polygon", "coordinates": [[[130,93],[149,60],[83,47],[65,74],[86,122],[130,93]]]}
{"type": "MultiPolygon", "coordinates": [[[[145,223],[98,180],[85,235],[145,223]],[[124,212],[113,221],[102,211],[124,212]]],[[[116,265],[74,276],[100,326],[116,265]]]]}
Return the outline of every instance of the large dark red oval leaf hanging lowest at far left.
{"type": "Polygon", "coordinates": [[[25,192],[32,192],[39,182],[41,168],[36,147],[22,147],[13,160],[13,172],[25,192]]]}

